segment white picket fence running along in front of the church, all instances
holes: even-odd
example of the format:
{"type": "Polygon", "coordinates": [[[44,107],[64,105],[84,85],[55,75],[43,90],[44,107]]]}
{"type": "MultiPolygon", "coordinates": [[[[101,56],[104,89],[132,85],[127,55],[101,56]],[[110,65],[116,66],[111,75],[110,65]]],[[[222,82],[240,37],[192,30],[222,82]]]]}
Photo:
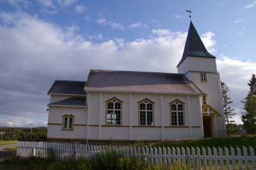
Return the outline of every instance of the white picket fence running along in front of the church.
{"type": "Polygon", "coordinates": [[[74,159],[88,159],[92,155],[99,152],[106,152],[115,150],[123,156],[137,156],[143,157],[148,163],[152,165],[170,166],[188,165],[193,169],[256,169],[256,156],[254,149],[250,147],[250,154],[247,154],[247,148],[243,147],[242,152],[240,148],[230,147],[231,155],[229,155],[228,148],[222,151],[221,148],[209,147],[207,151],[204,147],[201,148],[152,148],[152,147],[107,147],[107,146],[86,146],[84,144],[71,143],[50,143],[50,142],[18,142],[16,151],[17,156],[29,157],[40,156],[47,157],[48,151],[55,151],[58,159],[66,159],[73,157],[74,159]],[[49,148],[52,148],[49,150],[49,148]],[[185,152],[186,151],[186,152],[185,152]],[[243,154],[241,154],[243,153],[243,154]]]}

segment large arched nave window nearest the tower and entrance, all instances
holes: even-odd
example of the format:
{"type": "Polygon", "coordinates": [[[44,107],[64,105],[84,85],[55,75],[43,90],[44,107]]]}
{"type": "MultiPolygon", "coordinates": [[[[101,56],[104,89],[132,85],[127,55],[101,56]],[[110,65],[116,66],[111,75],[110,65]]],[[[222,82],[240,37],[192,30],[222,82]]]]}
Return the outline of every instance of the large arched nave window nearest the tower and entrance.
{"type": "Polygon", "coordinates": [[[171,107],[171,126],[184,126],[184,103],[176,99],[170,103],[171,107]]]}

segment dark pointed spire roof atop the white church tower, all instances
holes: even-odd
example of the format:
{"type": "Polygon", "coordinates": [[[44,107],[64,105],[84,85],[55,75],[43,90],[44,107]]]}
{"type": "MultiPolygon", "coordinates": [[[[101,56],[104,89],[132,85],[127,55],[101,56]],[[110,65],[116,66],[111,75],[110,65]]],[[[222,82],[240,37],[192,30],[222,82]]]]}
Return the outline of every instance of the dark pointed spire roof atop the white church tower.
{"type": "Polygon", "coordinates": [[[216,58],[207,51],[192,22],[190,22],[189,25],[188,36],[185,43],[183,56],[177,67],[184,61],[187,56],[210,57],[214,59],[216,58]]]}

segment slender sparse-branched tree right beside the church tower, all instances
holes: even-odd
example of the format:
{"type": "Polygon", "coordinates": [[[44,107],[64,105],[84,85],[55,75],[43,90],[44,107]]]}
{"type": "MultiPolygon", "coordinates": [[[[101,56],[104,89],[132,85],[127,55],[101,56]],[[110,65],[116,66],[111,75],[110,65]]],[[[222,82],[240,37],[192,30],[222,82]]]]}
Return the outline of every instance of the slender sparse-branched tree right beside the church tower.
{"type": "Polygon", "coordinates": [[[221,81],[222,87],[222,99],[223,99],[223,106],[224,106],[224,114],[225,114],[225,121],[226,121],[226,129],[229,129],[230,123],[234,123],[235,121],[231,121],[230,119],[233,118],[233,113],[235,109],[232,109],[229,104],[233,103],[234,101],[230,101],[230,97],[228,97],[229,87],[225,84],[225,82],[221,81]]]}

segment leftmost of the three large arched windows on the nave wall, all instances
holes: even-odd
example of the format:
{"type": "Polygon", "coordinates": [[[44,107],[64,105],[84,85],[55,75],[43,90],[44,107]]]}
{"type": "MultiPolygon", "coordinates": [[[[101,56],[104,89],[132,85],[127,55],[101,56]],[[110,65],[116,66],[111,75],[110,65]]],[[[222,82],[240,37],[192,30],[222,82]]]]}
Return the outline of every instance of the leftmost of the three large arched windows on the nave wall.
{"type": "Polygon", "coordinates": [[[117,98],[112,98],[106,101],[106,125],[121,125],[122,124],[122,101],[117,98]]]}

